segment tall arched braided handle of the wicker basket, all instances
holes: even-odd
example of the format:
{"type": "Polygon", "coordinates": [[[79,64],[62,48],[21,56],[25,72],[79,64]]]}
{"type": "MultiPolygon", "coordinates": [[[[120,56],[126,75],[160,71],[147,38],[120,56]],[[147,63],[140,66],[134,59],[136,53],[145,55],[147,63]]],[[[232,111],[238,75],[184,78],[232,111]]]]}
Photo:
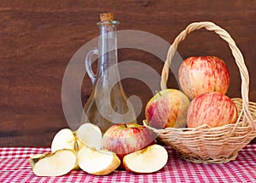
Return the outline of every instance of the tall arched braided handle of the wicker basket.
{"type": "Polygon", "coordinates": [[[204,21],[204,22],[191,23],[189,24],[189,26],[186,27],[185,30],[180,32],[180,34],[175,38],[170,49],[168,50],[166,62],[162,70],[161,82],[160,82],[161,89],[166,89],[166,83],[169,77],[169,69],[171,68],[172,58],[175,52],[177,51],[177,45],[181,43],[190,32],[201,29],[201,28],[206,28],[208,31],[215,31],[215,33],[217,33],[219,37],[224,39],[224,41],[226,41],[229,44],[232,54],[236,60],[236,65],[238,66],[241,74],[242,111],[244,112],[245,119],[247,119],[248,123],[252,125],[253,129],[255,129],[254,127],[255,124],[253,123],[253,117],[251,115],[251,112],[248,109],[249,74],[247,71],[247,67],[245,66],[241,51],[236,47],[236,43],[230,37],[230,34],[224,29],[222,29],[221,27],[216,26],[212,22],[204,21]]]}

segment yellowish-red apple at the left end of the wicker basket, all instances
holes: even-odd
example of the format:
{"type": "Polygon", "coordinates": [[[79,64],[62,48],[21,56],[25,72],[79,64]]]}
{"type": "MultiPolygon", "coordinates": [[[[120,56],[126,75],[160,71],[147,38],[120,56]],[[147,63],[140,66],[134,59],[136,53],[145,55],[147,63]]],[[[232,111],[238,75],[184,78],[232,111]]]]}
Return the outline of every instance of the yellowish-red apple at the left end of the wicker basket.
{"type": "Polygon", "coordinates": [[[189,98],[177,89],[161,90],[148,100],[145,118],[155,129],[186,126],[189,98]]]}

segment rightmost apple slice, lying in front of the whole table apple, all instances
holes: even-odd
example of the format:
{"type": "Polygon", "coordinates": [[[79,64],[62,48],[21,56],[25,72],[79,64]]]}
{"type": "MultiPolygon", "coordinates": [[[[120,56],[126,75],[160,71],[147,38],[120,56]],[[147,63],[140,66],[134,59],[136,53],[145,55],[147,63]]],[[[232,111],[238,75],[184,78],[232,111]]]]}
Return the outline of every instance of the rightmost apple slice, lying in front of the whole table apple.
{"type": "Polygon", "coordinates": [[[126,155],[123,165],[127,171],[148,174],[162,169],[167,160],[168,152],[165,147],[155,144],[126,155]]]}

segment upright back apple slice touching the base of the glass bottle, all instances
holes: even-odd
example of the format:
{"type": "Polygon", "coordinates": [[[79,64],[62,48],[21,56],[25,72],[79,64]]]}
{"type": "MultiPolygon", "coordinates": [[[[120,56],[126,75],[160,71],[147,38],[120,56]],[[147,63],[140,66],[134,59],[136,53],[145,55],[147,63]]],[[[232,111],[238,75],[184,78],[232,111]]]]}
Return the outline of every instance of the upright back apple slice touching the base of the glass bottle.
{"type": "MultiPolygon", "coordinates": [[[[84,123],[79,126],[79,129],[75,132],[75,135],[85,145],[100,150],[102,148],[102,131],[101,129],[92,123],[84,123]]],[[[80,143],[79,143],[80,145],[80,143]]]]}

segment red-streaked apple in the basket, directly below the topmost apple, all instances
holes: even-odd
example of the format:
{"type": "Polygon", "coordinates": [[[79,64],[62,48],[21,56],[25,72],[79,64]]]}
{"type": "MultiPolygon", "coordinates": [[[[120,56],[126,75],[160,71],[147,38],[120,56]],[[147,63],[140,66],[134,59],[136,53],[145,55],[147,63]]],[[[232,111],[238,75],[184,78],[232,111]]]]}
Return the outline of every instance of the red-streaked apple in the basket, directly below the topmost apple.
{"type": "Polygon", "coordinates": [[[196,128],[203,124],[220,127],[236,123],[236,104],[219,92],[200,94],[191,101],[187,117],[188,128],[196,128]]]}

